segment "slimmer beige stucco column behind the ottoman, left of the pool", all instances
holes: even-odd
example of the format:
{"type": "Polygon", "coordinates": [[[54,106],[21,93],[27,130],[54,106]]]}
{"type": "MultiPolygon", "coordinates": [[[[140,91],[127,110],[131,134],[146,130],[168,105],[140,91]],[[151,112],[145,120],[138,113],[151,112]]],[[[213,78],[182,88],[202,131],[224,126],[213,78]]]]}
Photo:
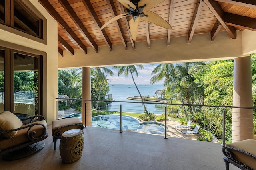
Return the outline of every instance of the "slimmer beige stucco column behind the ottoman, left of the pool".
{"type": "MultiPolygon", "coordinates": [[[[82,76],[82,99],[91,99],[91,71],[90,67],[83,67],[82,76]]],[[[92,125],[92,102],[86,101],[86,119],[85,119],[85,101],[82,101],[82,122],[86,126],[92,125]]]]}

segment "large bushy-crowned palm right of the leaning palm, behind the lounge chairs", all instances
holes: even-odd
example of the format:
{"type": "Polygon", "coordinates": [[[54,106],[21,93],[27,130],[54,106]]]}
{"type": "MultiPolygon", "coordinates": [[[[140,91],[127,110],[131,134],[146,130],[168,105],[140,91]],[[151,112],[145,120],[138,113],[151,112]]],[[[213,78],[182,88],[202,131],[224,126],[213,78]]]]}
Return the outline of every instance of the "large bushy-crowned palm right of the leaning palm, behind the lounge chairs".
{"type": "MultiPolygon", "coordinates": [[[[182,104],[192,104],[199,93],[198,84],[194,82],[195,78],[189,72],[193,66],[202,64],[202,62],[175,64],[159,64],[152,74],[156,74],[150,80],[151,84],[164,79],[166,96],[176,96],[182,104]]],[[[201,88],[200,88],[201,90],[201,88]]],[[[190,114],[193,115],[192,107],[188,107],[190,114]]],[[[187,116],[186,109],[183,105],[184,114],[187,116]]]]}

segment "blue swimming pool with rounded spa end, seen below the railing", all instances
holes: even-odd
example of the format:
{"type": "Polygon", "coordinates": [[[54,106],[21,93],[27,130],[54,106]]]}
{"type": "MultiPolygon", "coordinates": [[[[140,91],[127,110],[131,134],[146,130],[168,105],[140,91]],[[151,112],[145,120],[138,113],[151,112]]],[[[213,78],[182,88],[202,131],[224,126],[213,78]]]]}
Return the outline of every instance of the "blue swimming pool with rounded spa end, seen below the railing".
{"type": "MultiPolygon", "coordinates": [[[[82,118],[82,113],[72,113],[66,117],[82,118]]],[[[92,126],[107,129],[120,129],[120,115],[99,115],[92,117],[92,126]]],[[[164,134],[164,124],[154,121],[141,121],[136,117],[122,115],[122,129],[152,134],[164,134]]],[[[168,131],[168,127],[167,127],[168,131]]]]}

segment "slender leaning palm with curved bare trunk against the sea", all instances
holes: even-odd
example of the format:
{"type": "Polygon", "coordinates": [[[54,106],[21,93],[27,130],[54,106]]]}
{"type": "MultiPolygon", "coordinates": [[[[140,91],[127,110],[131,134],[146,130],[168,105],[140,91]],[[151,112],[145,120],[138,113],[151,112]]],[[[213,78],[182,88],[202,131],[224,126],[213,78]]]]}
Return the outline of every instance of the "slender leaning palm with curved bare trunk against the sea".
{"type": "MultiPolygon", "coordinates": [[[[136,65],[136,67],[143,69],[143,65],[136,65]]],[[[134,77],[133,77],[133,74],[135,74],[138,77],[138,72],[137,72],[136,67],[135,66],[113,66],[113,68],[118,69],[118,77],[122,74],[124,74],[124,76],[128,77],[128,75],[131,74],[132,81],[134,82],[134,85],[135,85],[138,93],[140,94],[140,90],[138,89],[138,87],[134,81],[134,77]]],[[[143,98],[142,98],[141,94],[140,94],[140,99],[141,99],[142,105],[144,107],[144,112],[146,114],[148,114],[148,110],[143,102],[143,98]]]]}

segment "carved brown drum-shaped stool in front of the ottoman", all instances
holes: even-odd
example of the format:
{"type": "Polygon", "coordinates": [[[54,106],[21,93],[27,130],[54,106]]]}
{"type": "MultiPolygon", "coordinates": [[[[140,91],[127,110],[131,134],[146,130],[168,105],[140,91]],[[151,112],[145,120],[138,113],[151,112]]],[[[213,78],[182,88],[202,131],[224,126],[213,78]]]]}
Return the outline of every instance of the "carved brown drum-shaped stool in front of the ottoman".
{"type": "Polygon", "coordinates": [[[60,139],[60,156],[62,162],[70,164],[79,160],[84,149],[82,130],[71,129],[62,133],[60,139]]]}

